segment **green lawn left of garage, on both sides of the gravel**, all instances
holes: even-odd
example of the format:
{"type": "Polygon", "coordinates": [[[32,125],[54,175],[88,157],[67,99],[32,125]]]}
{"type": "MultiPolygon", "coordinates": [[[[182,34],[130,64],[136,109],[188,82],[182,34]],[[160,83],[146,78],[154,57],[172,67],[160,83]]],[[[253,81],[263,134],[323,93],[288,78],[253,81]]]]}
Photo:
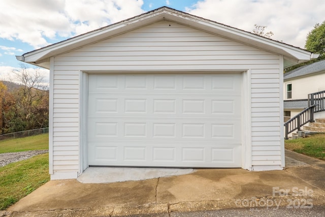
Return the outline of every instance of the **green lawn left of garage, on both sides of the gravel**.
{"type": "MultiPolygon", "coordinates": [[[[48,134],[0,141],[0,153],[48,149],[48,134]]],[[[49,154],[0,167],[0,210],[50,180],[49,154]]]]}

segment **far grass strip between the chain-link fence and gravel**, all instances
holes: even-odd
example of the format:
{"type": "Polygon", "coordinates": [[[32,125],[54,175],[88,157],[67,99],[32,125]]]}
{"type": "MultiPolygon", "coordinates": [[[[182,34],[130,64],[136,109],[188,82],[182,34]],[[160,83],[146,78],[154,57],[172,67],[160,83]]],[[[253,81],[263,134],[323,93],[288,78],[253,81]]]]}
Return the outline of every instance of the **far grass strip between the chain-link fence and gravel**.
{"type": "Polygon", "coordinates": [[[0,153],[49,149],[49,134],[0,141],[0,153]]]}

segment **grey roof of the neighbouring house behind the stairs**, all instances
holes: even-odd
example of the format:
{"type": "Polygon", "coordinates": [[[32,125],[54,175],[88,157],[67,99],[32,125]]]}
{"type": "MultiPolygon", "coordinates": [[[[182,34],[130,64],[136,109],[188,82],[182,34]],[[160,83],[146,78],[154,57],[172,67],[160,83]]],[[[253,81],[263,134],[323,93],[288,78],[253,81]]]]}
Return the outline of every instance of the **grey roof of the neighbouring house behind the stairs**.
{"type": "Polygon", "coordinates": [[[283,80],[309,75],[321,71],[324,71],[325,73],[325,60],[321,60],[310,65],[302,66],[290,72],[287,72],[283,75],[283,80]]]}

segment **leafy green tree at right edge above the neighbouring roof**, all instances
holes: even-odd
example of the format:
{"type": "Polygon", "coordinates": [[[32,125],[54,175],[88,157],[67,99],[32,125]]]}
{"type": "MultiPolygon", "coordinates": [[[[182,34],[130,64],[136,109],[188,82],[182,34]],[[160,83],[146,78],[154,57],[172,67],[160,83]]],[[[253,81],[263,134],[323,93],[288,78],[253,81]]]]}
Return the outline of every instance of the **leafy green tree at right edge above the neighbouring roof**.
{"type": "Polygon", "coordinates": [[[325,21],[314,25],[314,29],[308,33],[305,48],[318,53],[318,60],[325,59],[325,21]]]}

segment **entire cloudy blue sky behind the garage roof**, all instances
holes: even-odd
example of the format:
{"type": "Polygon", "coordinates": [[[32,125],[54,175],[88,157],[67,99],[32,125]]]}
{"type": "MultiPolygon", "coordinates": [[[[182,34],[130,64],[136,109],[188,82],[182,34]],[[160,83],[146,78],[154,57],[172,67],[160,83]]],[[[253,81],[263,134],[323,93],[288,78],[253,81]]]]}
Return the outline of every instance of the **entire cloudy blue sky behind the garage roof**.
{"type": "MultiPolygon", "coordinates": [[[[248,32],[267,26],[272,39],[301,48],[325,20],[323,0],[0,0],[0,80],[20,69],[16,55],[163,6],[248,32]]],[[[41,71],[48,80],[48,70],[41,71]]]]}

